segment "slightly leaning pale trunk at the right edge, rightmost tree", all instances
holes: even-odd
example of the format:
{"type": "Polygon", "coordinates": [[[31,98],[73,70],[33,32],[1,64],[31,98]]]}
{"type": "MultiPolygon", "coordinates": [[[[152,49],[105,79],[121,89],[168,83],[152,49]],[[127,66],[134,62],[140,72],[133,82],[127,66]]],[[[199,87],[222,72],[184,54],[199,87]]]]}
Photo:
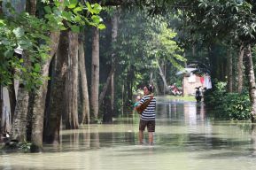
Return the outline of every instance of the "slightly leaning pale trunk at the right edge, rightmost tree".
{"type": "Polygon", "coordinates": [[[249,96],[252,104],[252,122],[256,120],[256,84],[252,63],[252,50],[251,45],[247,45],[244,50],[245,73],[249,81],[249,96]]]}

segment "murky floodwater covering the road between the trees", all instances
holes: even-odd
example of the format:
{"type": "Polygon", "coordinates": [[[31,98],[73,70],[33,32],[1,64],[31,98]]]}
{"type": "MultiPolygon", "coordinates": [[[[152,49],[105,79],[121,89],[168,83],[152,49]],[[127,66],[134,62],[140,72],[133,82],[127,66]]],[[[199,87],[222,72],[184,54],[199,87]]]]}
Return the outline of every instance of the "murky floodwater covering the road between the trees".
{"type": "MultiPolygon", "coordinates": [[[[61,132],[43,153],[4,153],[0,169],[206,170],[256,168],[252,124],[214,120],[203,103],[158,99],[154,145],[138,144],[138,115],[61,132]]],[[[147,139],[147,133],[145,133],[147,139]]],[[[147,143],[147,140],[144,141],[147,143]]]]}

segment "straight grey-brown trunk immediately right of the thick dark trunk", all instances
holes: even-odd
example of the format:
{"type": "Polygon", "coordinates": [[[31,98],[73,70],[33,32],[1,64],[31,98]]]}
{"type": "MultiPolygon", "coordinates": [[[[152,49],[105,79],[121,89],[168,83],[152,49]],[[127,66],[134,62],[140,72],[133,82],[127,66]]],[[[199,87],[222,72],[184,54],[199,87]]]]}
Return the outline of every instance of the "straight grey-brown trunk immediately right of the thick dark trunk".
{"type": "Polygon", "coordinates": [[[78,123],[78,34],[68,33],[68,72],[66,79],[66,129],[77,129],[78,123]]]}

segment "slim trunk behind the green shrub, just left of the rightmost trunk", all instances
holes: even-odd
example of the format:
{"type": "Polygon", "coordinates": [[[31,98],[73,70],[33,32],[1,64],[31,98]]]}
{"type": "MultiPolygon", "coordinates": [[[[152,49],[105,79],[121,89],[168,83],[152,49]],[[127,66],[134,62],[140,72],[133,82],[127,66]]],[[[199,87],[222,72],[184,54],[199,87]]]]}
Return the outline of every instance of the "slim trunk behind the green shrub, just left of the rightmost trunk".
{"type": "Polygon", "coordinates": [[[242,43],[239,50],[239,58],[237,63],[237,92],[241,93],[243,89],[243,58],[244,58],[244,44],[242,43]]]}

